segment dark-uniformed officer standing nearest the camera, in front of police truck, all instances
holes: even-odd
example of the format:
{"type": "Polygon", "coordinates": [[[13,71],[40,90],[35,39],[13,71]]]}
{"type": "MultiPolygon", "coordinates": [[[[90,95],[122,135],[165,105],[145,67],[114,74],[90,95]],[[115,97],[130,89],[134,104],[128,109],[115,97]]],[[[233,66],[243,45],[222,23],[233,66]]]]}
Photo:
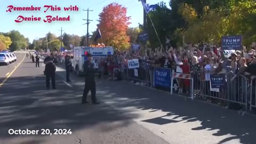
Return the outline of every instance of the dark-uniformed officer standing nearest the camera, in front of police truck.
{"type": "Polygon", "coordinates": [[[92,54],[87,54],[87,60],[84,62],[84,73],[85,73],[85,85],[84,85],[84,93],[82,97],[82,103],[89,103],[87,101],[87,94],[91,91],[92,103],[94,105],[99,104],[96,100],[96,84],[95,84],[95,72],[93,63],[91,63],[92,54]]]}

